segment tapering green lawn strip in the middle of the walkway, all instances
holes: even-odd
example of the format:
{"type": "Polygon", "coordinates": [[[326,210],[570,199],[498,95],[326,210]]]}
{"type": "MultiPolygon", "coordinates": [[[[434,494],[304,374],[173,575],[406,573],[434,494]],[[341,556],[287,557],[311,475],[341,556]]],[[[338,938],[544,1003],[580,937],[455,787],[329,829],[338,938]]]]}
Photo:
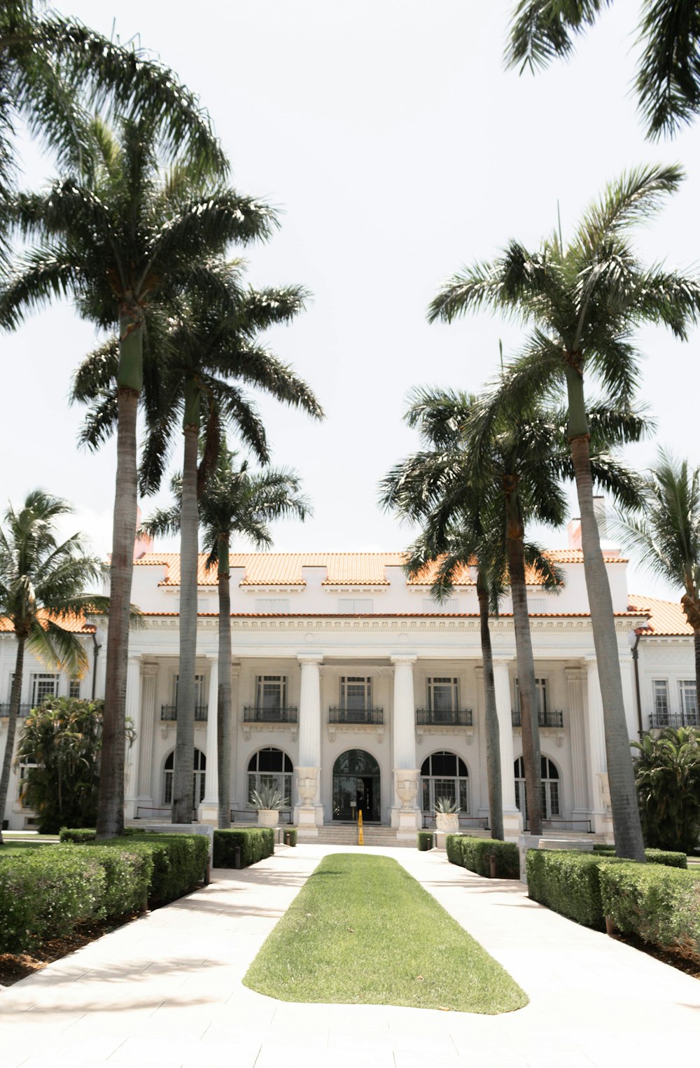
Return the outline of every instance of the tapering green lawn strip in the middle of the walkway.
{"type": "Polygon", "coordinates": [[[527,995],[397,861],[325,857],[243,979],[290,1002],[509,1012],[527,995]]]}

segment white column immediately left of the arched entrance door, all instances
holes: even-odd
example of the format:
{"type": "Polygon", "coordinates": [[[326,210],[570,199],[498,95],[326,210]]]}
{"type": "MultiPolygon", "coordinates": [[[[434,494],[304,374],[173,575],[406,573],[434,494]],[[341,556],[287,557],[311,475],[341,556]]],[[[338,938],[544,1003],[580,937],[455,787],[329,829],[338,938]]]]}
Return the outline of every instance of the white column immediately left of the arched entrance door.
{"type": "Polygon", "coordinates": [[[295,807],[295,821],[302,836],[318,835],[323,823],[323,808],[319,800],[321,779],[321,671],[320,653],[304,653],[297,657],[301,665],[301,694],[299,698],[299,764],[297,791],[299,803],[295,807]]]}

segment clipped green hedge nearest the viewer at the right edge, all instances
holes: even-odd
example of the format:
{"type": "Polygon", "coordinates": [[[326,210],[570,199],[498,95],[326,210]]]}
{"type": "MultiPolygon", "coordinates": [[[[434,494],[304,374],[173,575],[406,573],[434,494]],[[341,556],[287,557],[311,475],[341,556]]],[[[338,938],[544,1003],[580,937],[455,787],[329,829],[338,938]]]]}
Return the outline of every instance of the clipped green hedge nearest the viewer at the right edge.
{"type": "Polygon", "coordinates": [[[654,945],[700,952],[700,871],[656,864],[603,864],[605,915],[621,931],[654,945]]]}

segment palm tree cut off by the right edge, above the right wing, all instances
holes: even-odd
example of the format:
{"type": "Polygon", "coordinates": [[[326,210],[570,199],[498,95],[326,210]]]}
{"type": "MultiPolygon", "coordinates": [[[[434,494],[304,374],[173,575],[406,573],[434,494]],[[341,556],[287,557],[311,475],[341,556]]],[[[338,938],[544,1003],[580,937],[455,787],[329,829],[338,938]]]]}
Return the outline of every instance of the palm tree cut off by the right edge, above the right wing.
{"type": "Polygon", "coordinates": [[[661,450],[642,493],[642,514],[626,515],[622,537],[642,564],[684,591],[681,604],[693,627],[700,708],[700,467],[690,469],[687,460],[661,450]]]}

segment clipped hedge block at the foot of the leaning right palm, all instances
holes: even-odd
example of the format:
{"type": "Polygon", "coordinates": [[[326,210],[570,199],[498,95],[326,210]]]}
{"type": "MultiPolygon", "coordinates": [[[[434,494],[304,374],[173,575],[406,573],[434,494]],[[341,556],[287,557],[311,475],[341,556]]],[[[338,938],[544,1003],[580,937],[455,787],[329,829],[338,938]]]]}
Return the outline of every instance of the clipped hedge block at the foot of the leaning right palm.
{"type": "Polygon", "coordinates": [[[624,863],[617,857],[575,849],[528,849],[527,890],[534,901],[586,927],[605,926],[599,868],[624,863]]]}

